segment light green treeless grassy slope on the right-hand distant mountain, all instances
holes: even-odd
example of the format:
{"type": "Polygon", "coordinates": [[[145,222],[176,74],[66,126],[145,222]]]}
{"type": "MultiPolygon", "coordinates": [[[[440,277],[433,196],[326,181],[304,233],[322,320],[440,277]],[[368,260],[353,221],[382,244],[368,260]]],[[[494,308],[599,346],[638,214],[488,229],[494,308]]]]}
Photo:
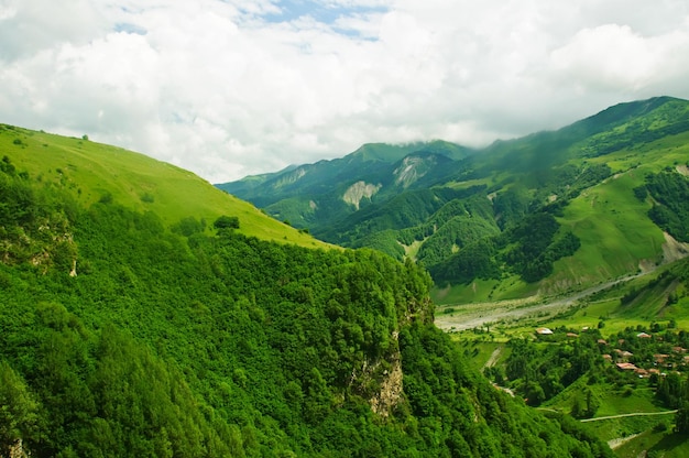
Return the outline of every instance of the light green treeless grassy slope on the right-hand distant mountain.
{"type": "MultiPolygon", "coordinates": [[[[649,201],[639,201],[633,188],[644,183],[648,173],[686,164],[689,157],[689,132],[639,143],[590,163],[608,164],[615,175],[570,201],[558,218],[565,230],[581,240],[573,257],[555,263],[554,273],[536,285],[514,277],[502,282],[477,281],[456,285],[450,291],[434,290],[438,304],[508,299],[536,293],[557,294],[583,288],[606,280],[634,273],[663,261],[663,231],[648,218],[649,201]]],[[[582,160],[572,160],[580,164],[582,160]]]]}

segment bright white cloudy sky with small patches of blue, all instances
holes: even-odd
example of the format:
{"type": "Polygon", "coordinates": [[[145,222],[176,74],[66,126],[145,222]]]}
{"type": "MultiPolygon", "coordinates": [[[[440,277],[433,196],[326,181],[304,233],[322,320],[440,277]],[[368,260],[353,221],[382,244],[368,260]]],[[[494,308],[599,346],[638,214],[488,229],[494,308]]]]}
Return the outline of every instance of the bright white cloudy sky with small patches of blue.
{"type": "Polygon", "coordinates": [[[689,99],[687,0],[0,0],[0,122],[210,183],[689,99]]]}

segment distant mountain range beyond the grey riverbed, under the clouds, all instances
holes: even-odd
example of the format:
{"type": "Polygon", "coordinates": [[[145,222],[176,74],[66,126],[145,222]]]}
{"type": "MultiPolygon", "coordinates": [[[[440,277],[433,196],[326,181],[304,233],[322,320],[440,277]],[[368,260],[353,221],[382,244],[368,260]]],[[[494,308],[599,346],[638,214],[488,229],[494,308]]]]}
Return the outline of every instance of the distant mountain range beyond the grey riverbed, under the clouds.
{"type": "Polygon", "coordinates": [[[217,186],[321,240],[413,259],[439,287],[506,298],[676,259],[688,157],[689,102],[659,97],[482,150],[365,145],[217,186]]]}

